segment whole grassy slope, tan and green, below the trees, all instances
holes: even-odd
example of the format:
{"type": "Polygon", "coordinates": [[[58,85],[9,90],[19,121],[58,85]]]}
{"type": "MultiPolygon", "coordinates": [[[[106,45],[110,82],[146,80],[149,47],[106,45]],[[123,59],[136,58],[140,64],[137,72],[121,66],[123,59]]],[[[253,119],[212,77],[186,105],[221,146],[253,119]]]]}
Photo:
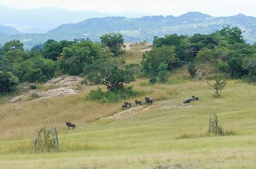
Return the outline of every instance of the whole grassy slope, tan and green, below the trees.
{"type": "MultiPolygon", "coordinates": [[[[140,63],[142,54],[129,50],[120,58],[140,63]]],[[[128,86],[155,102],[135,107],[130,98],[127,110],[121,110],[122,101],[85,100],[96,87],[47,102],[0,104],[0,168],[256,168],[256,86],[228,80],[216,98],[186,67],[173,71],[168,84],[147,82],[140,78],[128,86]],[[182,103],[192,95],[200,100],[182,103]],[[209,136],[213,114],[235,135],[209,136]],[[77,124],[76,130],[65,121],[77,124]],[[55,125],[60,151],[32,153],[35,130],[55,125]]]]}

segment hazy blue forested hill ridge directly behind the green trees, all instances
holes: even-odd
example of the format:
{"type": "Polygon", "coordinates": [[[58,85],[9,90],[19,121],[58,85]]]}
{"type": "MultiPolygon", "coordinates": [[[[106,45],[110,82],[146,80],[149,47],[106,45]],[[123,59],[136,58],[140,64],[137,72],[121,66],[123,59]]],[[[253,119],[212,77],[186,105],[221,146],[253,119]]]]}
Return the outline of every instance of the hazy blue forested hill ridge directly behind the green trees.
{"type": "Polygon", "coordinates": [[[25,48],[43,44],[47,39],[72,40],[74,38],[91,38],[100,41],[100,36],[108,32],[123,34],[126,42],[148,40],[154,36],[166,34],[193,35],[209,34],[221,30],[224,25],[238,26],[243,31],[247,43],[256,41],[256,17],[238,14],[229,17],[212,17],[200,12],[188,12],[178,17],[144,16],[141,18],[103,17],[90,18],[76,24],[61,25],[45,34],[0,35],[0,43],[18,39],[25,48]]]}

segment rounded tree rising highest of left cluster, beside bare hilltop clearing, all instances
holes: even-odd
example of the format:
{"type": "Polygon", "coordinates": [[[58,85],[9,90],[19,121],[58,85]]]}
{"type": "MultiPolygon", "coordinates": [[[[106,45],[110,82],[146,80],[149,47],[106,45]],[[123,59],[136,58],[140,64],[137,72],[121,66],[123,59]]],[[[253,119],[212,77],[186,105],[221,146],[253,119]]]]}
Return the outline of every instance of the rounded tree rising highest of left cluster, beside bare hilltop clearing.
{"type": "Polygon", "coordinates": [[[106,47],[107,50],[113,52],[115,56],[125,48],[123,35],[120,33],[108,33],[100,37],[101,43],[106,47]]]}

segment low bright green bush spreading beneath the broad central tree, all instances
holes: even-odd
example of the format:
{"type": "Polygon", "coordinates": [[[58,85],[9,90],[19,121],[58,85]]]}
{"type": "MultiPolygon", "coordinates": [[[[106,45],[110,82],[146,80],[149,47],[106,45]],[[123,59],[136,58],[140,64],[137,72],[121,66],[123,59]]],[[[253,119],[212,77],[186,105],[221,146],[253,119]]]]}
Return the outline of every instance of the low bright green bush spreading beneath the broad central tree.
{"type": "Polygon", "coordinates": [[[107,102],[118,102],[120,100],[124,100],[130,97],[141,96],[143,94],[144,92],[137,92],[132,90],[131,88],[128,88],[128,89],[123,88],[123,89],[114,90],[114,91],[92,90],[86,96],[86,99],[90,101],[107,103],[107,102]]]}

